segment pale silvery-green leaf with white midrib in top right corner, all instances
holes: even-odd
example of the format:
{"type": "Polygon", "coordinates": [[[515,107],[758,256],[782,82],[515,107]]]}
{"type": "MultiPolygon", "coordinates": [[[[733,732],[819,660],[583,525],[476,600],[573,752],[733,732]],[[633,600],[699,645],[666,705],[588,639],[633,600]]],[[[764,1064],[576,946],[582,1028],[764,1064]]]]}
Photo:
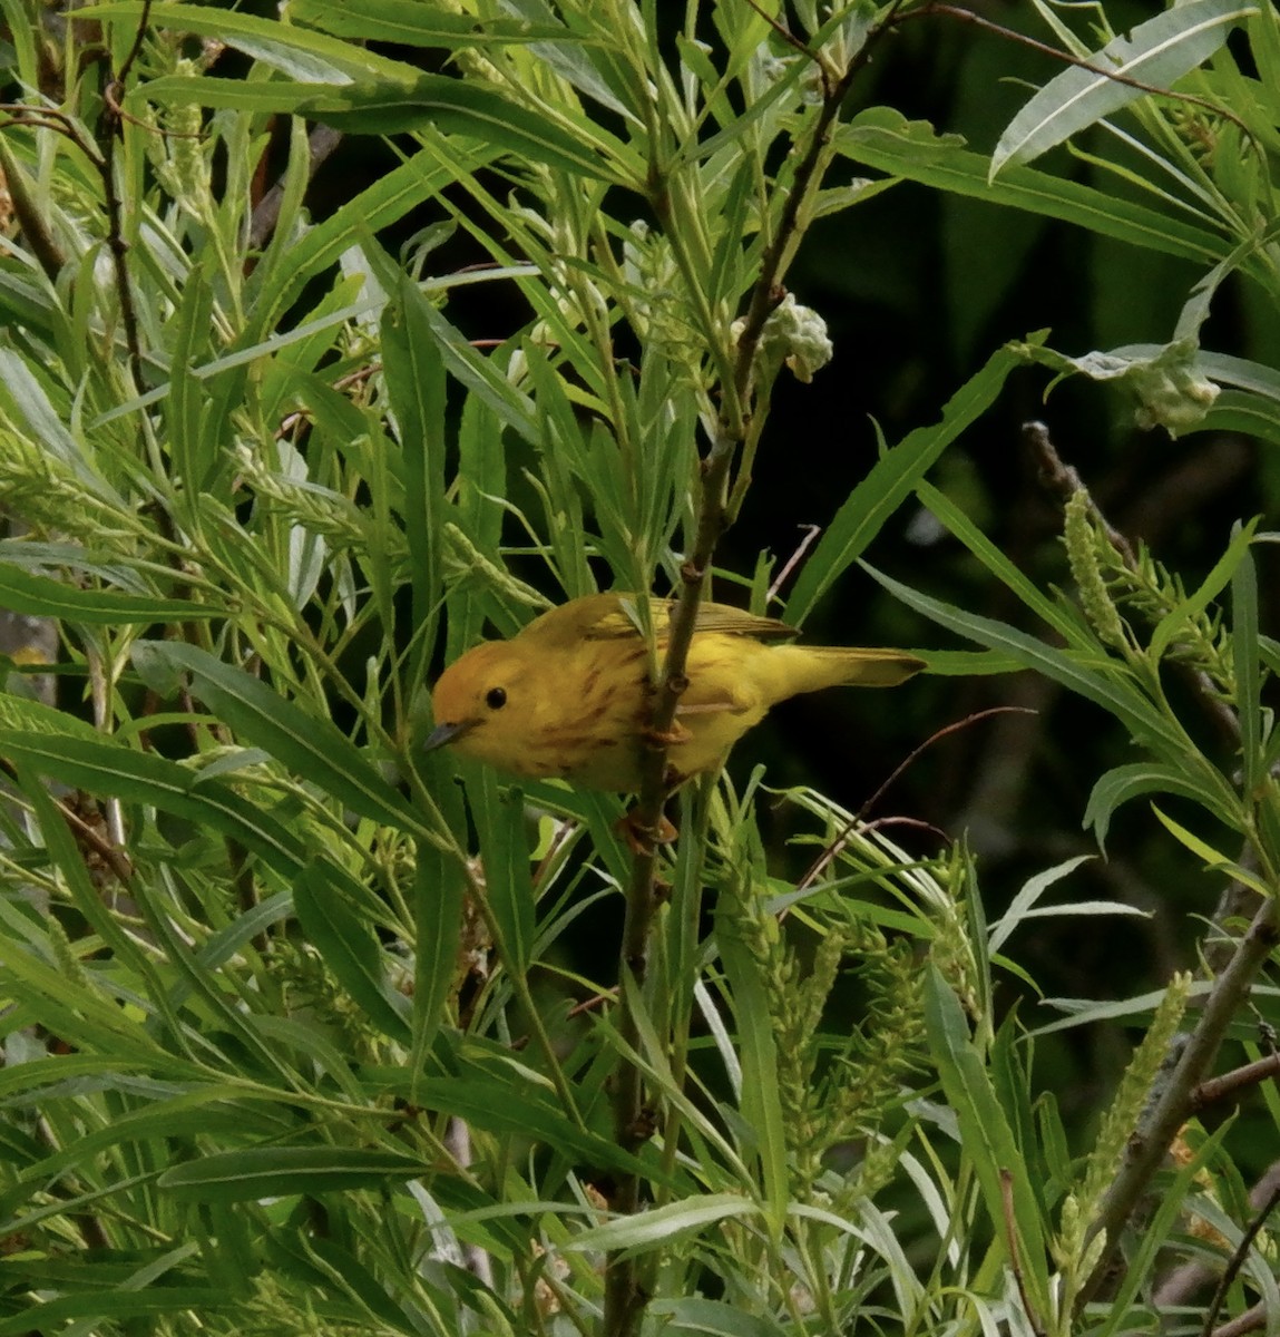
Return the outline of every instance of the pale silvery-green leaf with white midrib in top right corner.
{"type": "Polygon", "coordinates": [[[1174,84],[1217,51],[1232,24],[1255,13],[1256,4],[1239,0],[1188,0],[1109,41],[1089,57],[1093,70],[1065,70],[1014,116],[991,155],[991,178],[1148,96],[1116,76],[1154,87],[1174,84]]]}

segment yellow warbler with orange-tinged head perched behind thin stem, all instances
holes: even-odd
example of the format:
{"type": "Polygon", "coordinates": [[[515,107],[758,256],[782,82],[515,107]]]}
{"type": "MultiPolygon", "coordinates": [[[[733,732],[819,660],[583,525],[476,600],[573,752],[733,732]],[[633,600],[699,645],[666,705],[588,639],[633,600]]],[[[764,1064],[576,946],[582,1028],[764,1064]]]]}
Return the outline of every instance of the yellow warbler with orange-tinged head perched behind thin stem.
{"type": "MultiPolygon", "coordinates": [[[[510,640],[488,640],[452,663],[432,693],[426,746],[517,775],[558,775],[591,789],[640,787],[652,687],[635,595],[572,599],[510,640]]],[[[661,652],[675,604],[649,600],[661,652]]],[[[779,644],[792,627],[704,603],[688,655],[668,761],[684,779],[717,766],[768,710],[802,691],[893,687],[925,667],[901,650],[779,644]]]]}

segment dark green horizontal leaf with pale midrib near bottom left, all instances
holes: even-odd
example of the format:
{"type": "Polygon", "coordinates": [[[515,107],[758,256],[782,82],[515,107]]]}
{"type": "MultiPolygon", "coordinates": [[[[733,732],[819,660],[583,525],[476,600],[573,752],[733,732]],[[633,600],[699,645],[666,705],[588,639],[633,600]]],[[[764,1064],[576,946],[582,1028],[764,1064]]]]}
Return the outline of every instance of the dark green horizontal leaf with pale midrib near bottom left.
{"type": "Polygon", "coordinates": [[[350,1193],[417,1179],[433,1166],[375,1147],[246,1147],[166,1170],[156,1187],[195,1202],[257,1202],[298,1193],[350,1193]]]}

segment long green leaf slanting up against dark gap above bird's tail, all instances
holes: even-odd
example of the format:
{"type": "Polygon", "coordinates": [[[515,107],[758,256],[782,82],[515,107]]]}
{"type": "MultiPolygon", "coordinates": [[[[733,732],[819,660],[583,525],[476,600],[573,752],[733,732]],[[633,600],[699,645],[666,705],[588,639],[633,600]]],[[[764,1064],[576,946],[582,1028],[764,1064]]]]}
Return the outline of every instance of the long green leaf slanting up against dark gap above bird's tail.
{"type": "Polygon", "coordinates": [[[951,396],[941,422],[917,428],[876,460],[806,560],[787,600],[784,622],[796,627],[804,622],[814,604],[863,554],[938,456],[995,402],[1017,365],[1017,357],[1007,350],[997,352],[951,396]]]}

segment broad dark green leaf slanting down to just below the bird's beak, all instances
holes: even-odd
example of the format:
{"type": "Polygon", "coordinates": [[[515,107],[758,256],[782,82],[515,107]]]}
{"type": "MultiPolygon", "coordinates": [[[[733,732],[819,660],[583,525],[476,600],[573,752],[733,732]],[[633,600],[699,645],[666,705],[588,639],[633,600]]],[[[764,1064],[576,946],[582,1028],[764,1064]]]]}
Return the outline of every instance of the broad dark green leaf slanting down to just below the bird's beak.
{"type": "Polygon", "coordinates": [[[422,818],[329,719],[309,714],[242,668],[176,640],[139,642],[142,654],[191,674],[196,697],[235,733],[361,817],[422,833],[422,818]]]}

